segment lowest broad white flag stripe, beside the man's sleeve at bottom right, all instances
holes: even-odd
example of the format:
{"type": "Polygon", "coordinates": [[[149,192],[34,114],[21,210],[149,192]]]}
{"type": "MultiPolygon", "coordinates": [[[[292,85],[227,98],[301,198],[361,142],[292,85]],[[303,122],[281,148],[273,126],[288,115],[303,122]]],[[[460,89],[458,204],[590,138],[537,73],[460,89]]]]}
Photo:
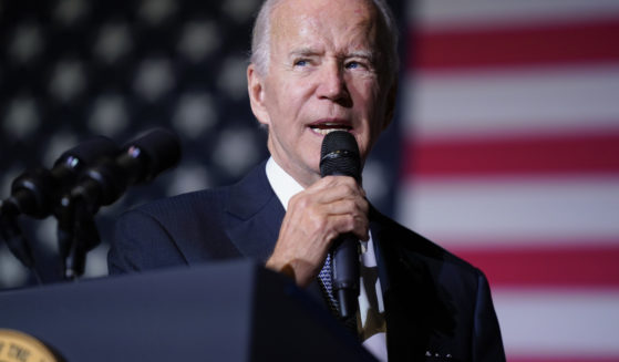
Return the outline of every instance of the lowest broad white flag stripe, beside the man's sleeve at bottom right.
{"type": "Polygon", "coordinates": [[[616,356],[619,360],[619,291],[509,290],[493,299],[508,358],[616,356]]]}

